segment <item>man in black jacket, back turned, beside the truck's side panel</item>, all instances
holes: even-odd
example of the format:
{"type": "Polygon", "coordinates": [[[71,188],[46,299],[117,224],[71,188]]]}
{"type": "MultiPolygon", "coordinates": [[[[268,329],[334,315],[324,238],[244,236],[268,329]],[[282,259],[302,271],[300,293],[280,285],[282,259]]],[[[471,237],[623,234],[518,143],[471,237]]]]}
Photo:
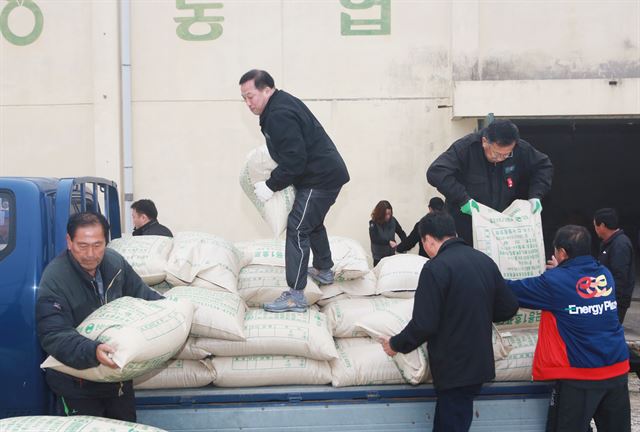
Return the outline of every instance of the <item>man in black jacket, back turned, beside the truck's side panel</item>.
{"type": "Polygon", "coordinates": [[[495,378],[492,322],[518,310],[518,300],[487,255],[456,238],[448,213],[426,215],[420,235],[431,260],[420,273],[413,317],[385,352],[409,353],[427,342],[437,403],[435,432],[468,431],[473,399],[495,378]]]}

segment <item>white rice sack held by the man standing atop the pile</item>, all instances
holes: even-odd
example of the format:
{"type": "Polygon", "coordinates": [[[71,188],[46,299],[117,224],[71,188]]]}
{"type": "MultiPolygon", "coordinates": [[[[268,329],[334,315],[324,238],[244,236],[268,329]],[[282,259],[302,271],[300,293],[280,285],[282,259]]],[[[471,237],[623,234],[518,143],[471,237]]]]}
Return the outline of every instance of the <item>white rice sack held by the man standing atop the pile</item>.
{"type": "Polygon", "coordinates": [[[269,156],[269,150],[265,144],[249,153],[247,162],[240,172],[242,190],[258,210],[262,219],[269,225],[274,237],[279,237],[287,228],[287,217],[296,197],[295,189],[293,186],[289,186],[275,192],[270,200],[263,203],[256,196],[254,185],[268,180],[271,177],[271,171],[277,166],[269,156]]]}

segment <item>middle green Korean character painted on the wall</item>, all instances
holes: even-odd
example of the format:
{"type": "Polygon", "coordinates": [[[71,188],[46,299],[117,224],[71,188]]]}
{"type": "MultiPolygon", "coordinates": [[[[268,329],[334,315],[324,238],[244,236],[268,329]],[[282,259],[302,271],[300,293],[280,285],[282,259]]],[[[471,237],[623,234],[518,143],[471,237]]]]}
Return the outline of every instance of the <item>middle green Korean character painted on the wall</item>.
{"type": "Polygon", "coordinates": [[[178,23],[176,34],[180,39],[186,41],[211,41],[222,36],[222,22],[224,17],[207,15],[207,9],[222,9],[222,3],[187,3],[187,0],[176,0],[176,8],[180,10],[191,10],[193,16],[176,17],[173,20],[178,23]],[[209,27],[206,33],[194,33],[193,26],[204,23],[209,27]]]}

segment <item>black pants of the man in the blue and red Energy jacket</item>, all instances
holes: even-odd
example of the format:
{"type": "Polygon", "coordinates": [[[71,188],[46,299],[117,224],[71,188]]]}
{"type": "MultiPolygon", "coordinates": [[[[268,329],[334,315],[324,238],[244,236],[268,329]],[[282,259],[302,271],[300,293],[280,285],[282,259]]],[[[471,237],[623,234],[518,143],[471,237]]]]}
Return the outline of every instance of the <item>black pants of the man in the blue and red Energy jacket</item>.
{"type": "Polygon", "coordinates": [[[547,432],[590,430],[630,432],[631,408],[627,374],[602,381],[557,381],[551,394],[547,432]]]}

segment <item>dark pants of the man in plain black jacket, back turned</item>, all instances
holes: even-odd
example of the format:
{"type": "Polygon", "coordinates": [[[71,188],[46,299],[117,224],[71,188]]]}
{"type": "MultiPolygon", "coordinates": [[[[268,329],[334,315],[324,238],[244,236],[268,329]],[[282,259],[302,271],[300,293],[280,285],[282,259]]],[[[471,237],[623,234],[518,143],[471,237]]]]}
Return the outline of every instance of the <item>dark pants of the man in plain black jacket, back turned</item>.
{"type": "Polygon", "coordinates": [[[482,384],[448,390],[436,389],[436,415],[433,432],[467,432],[473,420],[473,399],[482,384]]]}

